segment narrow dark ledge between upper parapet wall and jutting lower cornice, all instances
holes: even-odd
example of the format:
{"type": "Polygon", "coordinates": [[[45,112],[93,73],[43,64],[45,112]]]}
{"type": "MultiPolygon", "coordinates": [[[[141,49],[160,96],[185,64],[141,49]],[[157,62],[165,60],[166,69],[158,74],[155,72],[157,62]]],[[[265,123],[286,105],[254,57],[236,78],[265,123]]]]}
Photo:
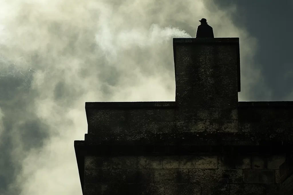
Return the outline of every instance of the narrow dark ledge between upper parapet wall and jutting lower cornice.
{"type": "Polygon", "coordinates": [[[247,145],[257,146],[263,142],[292,143],[293,134],[268,132],[178,132],[178,133],[121,133],[107,137],[85,134],[85,141],[99,145],[163,145],[206,146],[247,145]]]}

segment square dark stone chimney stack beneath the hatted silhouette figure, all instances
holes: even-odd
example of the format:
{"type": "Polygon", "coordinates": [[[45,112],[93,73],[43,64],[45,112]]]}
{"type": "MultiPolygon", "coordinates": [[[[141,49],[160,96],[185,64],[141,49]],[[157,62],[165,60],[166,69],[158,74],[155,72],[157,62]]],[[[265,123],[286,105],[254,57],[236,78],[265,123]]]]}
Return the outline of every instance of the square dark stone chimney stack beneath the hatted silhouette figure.
{"type": "Polygon", "coordinates": [[[239,38],[173,39],[173,51],[178,106],[236,108],[239,38]]]}

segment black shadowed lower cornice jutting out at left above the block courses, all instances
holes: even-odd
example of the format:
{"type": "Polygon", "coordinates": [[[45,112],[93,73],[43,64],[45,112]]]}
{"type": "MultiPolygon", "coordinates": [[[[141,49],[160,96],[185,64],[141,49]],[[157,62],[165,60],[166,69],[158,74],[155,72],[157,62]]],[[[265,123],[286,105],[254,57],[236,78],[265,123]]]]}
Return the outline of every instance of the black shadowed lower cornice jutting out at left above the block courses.
{"type": "Polygon", "coordinates": [[[82,191],[84,191],[84,157],[85,156],[147,156],[147,155],[202,155],[202,154],[226,154],[226,155],[279,155],[288,149],[287,145],[276,143],[263,143],[258,146],[162,146],[162,145],[97,145],[91,141],[74,141],[76,161],[82,191]]]}

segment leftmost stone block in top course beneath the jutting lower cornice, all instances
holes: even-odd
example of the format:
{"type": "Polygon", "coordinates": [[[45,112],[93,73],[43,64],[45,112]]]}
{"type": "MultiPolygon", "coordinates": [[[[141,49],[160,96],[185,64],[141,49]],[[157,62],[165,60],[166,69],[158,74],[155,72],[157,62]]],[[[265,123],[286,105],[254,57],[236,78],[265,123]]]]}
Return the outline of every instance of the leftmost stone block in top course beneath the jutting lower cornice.
{"type": "Polygon", "coordinates": [[[110,169],[110,158],[104,156],[85,156],[85,169],[110,169]]]}

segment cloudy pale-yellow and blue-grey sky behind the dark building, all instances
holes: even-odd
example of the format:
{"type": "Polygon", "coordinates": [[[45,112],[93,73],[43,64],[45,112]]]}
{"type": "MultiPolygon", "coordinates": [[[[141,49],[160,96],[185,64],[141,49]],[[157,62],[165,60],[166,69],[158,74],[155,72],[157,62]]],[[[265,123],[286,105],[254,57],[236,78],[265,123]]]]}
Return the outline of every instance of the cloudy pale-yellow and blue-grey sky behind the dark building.
{"type": "Polygon", "coordinates": [[[89,101],[175,101],[172,38],[239,37],[239,101],[293,101],[293,1],[0,0],[0,194],[81,195],[89,101]]]}

